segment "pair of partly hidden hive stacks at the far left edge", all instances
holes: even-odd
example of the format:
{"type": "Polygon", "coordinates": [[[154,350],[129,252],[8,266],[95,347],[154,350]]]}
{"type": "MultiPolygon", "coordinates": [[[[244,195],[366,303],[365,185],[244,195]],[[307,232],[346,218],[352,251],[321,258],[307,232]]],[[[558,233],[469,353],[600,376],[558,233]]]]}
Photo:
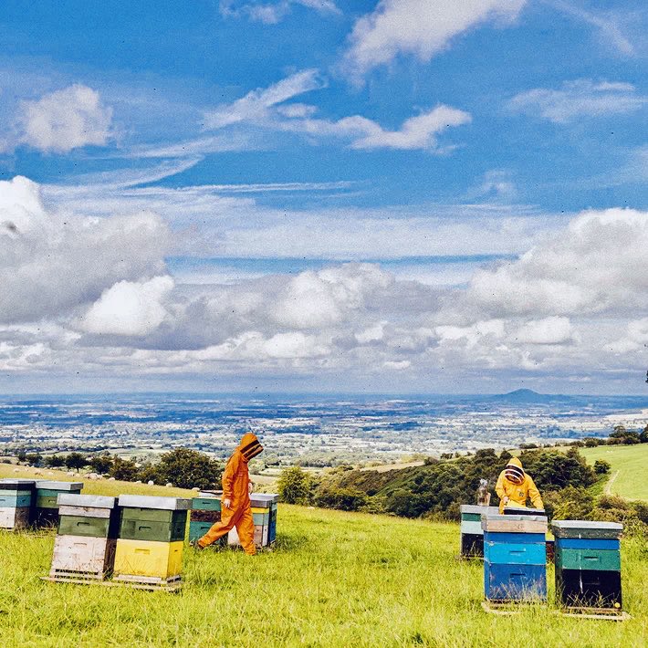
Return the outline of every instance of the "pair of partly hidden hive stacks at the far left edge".
{"type": "Polygon", "coordinates": [[[0,480],[0,528],[51,527],[58,521],[57,496],[80,493],[82,482],[0,480]]]}

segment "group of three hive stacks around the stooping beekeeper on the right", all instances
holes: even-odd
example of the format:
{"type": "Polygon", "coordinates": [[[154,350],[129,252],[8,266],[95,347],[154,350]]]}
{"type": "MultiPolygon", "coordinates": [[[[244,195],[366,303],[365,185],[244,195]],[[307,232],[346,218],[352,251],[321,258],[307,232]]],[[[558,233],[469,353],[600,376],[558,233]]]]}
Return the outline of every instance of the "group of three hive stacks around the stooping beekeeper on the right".
{"type": "MultiPolygon", "coordinates": [[[[484,591],[489,601],[547,598],[547,517],[512,509],[462,507],[462,553],[478,554],[476,524],[482,531],[484,591]],[[516,515],[516,513],[518,515],[516,515]],[[476,520],[479,516],[479,522],[476,520]],[[469,532],[469,533],[466,533],[469,532]],[[465,538],[469,536],[469,538],[465,538]]],[[[556,520],[556,592],[567,608],[621,611],[621,533],[615,522],[556,520]]]]}

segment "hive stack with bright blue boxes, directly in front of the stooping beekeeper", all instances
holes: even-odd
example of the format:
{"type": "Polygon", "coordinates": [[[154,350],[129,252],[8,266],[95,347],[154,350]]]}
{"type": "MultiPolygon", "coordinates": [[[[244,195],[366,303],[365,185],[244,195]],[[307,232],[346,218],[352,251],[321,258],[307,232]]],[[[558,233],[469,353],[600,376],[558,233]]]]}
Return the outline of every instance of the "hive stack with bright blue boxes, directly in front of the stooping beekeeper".
{"type": "Polygon", "coordinates": [[[486,600],[546,601],[547,517],[486,515],[482,528],[486,600]]]}

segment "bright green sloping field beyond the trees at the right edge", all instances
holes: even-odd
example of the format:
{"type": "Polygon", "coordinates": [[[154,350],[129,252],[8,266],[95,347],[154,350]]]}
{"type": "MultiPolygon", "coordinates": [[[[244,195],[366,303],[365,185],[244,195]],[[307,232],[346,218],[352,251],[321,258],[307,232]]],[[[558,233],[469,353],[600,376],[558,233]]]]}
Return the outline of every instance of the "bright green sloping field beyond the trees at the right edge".
{"type": "Polygon", "coordinates": [[[580,453],[591,465],[597,459],[610,462],[607,486],[611,495],[648,501],[648,444],[599,445],[580,448],[580,453]]]}

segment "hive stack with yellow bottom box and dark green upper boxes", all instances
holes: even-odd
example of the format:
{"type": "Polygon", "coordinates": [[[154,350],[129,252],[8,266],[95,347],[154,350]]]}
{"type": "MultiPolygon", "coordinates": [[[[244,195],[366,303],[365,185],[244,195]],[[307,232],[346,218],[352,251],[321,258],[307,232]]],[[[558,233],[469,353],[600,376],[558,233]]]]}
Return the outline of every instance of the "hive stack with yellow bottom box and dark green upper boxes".
{"type": "Polygon", "coordinates": [[[191,499],[122,495],[115,580],[172,585],[181,580],[191,499]]]}

